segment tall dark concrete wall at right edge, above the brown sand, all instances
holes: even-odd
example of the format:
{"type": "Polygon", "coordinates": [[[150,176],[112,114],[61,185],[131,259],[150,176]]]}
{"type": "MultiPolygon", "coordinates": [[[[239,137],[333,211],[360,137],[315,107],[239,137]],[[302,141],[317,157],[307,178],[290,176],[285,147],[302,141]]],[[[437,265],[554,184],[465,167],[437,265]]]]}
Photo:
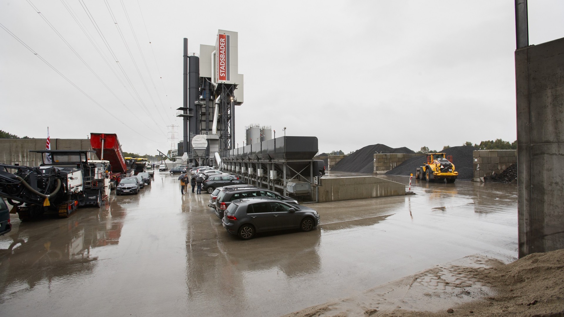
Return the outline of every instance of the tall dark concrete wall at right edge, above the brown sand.
{"type": "Polygon", "coordinates": [[[515,51],[519,257],[564,248],[564,38],[515,51]]]}

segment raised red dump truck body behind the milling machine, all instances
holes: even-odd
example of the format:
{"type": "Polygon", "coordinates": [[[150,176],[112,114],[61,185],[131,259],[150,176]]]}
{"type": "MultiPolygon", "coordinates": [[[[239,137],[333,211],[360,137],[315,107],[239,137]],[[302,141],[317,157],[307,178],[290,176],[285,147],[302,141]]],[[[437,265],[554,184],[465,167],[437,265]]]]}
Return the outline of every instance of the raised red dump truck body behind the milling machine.
{"type": "Polygon", "coordinates": [[[90,146],[96,151],[100,160],[109,161],[112,166],[111,178],[114,182],[112,187],[115,187],[120,182],[121,177],[127,173],[127,164],[117,134],[90,133],[90,146]],[[102,150],[104,151],[103,156],[102,150]]]}

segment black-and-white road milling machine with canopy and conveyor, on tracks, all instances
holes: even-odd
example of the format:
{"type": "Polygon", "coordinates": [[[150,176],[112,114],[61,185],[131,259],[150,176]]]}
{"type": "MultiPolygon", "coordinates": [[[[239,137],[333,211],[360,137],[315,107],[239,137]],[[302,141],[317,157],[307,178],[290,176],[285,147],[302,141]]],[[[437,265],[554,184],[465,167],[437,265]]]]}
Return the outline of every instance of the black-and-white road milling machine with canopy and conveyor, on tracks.
{"type": "Polygon", "coordinates": [[[0,196],[14,206],[21,221],[43,213],[66,218],[78,206],[100,206],[109,195],[109,162],[90,160],[94,151],[39,150],[43,164],[0,164],[0,196]]]}

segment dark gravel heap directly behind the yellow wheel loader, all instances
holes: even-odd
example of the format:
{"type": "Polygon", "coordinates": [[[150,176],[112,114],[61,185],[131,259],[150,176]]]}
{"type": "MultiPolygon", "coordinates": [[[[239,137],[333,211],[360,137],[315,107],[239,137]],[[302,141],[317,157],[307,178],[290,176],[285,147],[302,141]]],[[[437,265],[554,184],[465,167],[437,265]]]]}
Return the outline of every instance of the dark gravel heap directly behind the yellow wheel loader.
{"type": "MultiPolygon", "coordinates": [[[[452,163],[455,165],[455,170],[459,172],[457,179],[470,180],[474,177],[474,156],[472,152],[475,150],[477,150],[475,147],[460,146],[447,148],[439,153],[447,153],[447,156],[452,155],[452,163]]],[[[415,169],[427,162],[427,156],[421,155],[408,158],[395,169],[387,171],[386,174],[409,176],[410,173],[413,173],[413,176],[415,176],[415,169]]]]}

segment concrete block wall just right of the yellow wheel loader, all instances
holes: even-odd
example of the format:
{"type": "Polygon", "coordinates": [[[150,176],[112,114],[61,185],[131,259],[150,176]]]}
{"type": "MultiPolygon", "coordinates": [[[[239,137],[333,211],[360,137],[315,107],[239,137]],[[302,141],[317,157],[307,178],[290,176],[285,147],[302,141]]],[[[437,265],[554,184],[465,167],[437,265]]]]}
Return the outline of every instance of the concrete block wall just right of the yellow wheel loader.
{"type": "Polygon", "coordinates": [[[517,164],[517,151],[514,149],[482,149],[473,152],[473,182],[483,182],[484,177],[500,174],[506,168],[517,164]]]}

